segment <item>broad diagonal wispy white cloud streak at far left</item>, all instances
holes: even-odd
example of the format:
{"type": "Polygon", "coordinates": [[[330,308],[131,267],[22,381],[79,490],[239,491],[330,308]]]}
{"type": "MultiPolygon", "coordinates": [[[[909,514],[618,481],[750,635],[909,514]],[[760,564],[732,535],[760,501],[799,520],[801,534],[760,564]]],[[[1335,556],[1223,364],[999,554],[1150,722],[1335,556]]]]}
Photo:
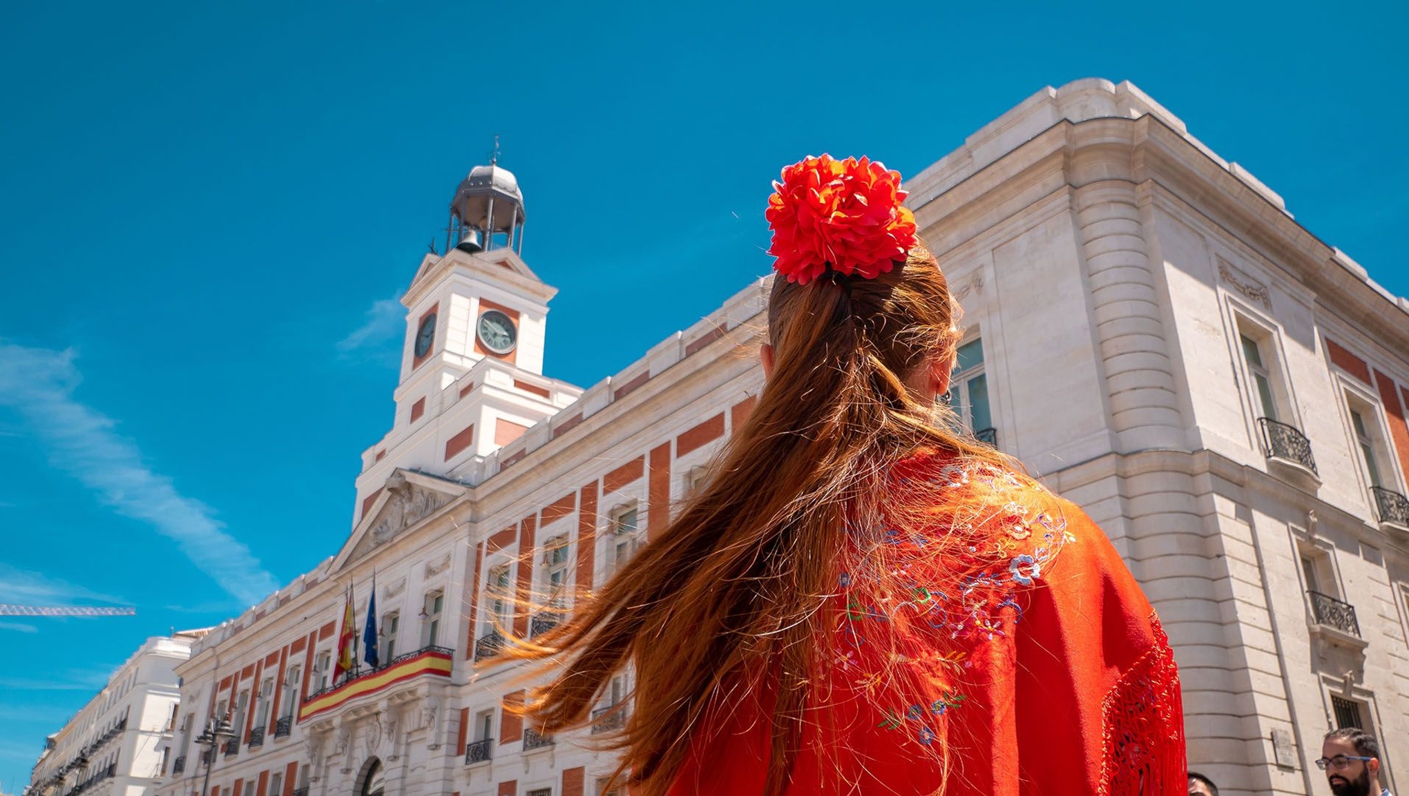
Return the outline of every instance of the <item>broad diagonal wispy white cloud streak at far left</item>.
{"type": "Polygon", "coordinates": [[[97,493],[118,514],[141,520],[221,589],[252,604],[278,587],[249,548],[225,533],[209,506],[180,495],[142,462],[114,421],[73,397],[80,375],[72,351],[0,342],[0,406],[18,410],[49,462],[97,493]]]}

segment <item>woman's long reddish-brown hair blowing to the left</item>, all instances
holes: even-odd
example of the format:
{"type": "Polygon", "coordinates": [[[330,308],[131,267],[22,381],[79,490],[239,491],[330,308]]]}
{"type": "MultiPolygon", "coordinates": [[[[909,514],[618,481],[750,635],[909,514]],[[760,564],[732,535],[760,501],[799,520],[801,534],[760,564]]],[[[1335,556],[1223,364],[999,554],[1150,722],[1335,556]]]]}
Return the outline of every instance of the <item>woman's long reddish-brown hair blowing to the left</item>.
{"type": "Polygon", "coordinates": [[[919,449],[1012,465],[954,431],[917,389],[952,358],[955,314],[921,247],[878,279],[775,279],[774,369],[709,485],[568,623],[506,651],[542,661],[551,678],[521,707],[530,721],[548,733],[589,724],[612,678],[633,668],[634,704],[613,741],[619,773],[658,796],[710,724],[712,702],[762,672],[776,693],[766,790],[781,793],[847,520],[878,514],[889,465],[919,449]]]}

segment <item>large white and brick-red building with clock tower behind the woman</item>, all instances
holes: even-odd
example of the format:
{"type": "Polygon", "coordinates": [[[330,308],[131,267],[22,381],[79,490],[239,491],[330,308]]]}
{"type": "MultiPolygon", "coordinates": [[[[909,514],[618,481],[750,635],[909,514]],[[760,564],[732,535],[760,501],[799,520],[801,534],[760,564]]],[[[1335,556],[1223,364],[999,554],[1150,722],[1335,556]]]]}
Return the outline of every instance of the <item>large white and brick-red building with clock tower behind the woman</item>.
{"type": "MultiPolygon", "coordinates": [[[[1126,555],[1181,665],[1191,766],[1319,793],[1322,734],[1361,724],[1409,785],[1409,301],[1129,83],[1045,89],[907,187],[967,310],[954,403],[1126,555]]],[[[461,183],[458,245],[403,299],[352,533],[194,645],[163,796],[200,792],[211,716],[240,734],[206,796],[599,792],[612,757],[524,727],[521,672],[473,662],[571,611],[699,483],[762,385],[768,282],[581,390],[541,373],[554,289],[523,223],[504,169],[461,183]],[[348,589],[379,666],[334,682],[348,589]]]]}

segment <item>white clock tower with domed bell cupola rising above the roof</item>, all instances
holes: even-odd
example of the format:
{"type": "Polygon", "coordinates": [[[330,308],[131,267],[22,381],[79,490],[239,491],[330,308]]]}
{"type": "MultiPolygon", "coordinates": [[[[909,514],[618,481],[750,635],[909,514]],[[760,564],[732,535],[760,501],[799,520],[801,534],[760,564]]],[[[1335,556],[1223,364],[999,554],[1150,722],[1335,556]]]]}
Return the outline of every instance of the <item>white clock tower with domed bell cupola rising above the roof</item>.
{"type": "Polygon", "coordinates": [[[447,252],[427,254],[402,297],[396,421],[364,454],[359,506],[396,469],[478,482],[483,456],[582,393],[542,376],[548,300],[557,289],[520,256],[519,180],[497,162],[475,166],[449,211],[447,252]]]}

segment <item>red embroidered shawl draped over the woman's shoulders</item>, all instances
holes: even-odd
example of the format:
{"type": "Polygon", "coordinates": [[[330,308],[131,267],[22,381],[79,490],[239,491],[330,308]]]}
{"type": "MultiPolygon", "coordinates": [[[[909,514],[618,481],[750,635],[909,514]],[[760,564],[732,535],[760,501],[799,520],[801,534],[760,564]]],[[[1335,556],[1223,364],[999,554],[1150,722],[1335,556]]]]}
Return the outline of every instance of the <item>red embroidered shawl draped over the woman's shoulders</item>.
{"type": "MultiPolygon", "coordinates": [[[[943,530],[852,534],[879,537],[871,571],[883,548],[909,589],[868,590],[864,544],[844,559],[788,796],[1182,796],[1174,655],[1100,528],[986,465],[917,456],[896,473],[898,489],[926,479],[982,495],[985,510],[943,530]]],[[[768,690],[714,706],[671,796],[762,793],[768,690]]]]}

